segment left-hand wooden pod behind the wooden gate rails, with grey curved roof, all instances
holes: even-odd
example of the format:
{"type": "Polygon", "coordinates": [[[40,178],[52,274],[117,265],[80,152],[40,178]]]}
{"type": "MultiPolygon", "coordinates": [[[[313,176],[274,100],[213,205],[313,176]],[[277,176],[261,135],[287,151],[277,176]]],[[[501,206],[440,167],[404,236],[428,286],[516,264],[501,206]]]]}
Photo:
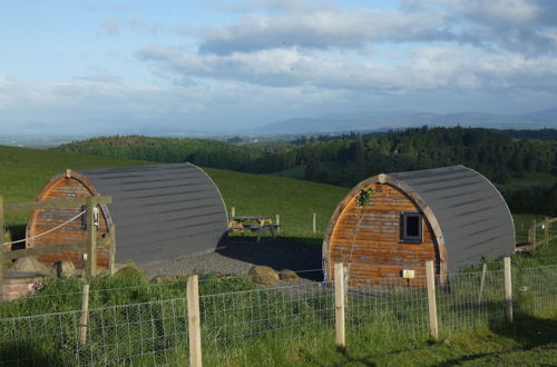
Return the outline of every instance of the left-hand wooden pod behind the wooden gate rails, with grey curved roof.
{"type": "MultiPolygon", "coordinates": [[[[37,200],[66,197],[111,196],[100,206],[98,236],[116,227],[116,260],[138,264],[214,251],[227,234],[226,208],[213,180],[190,163],[67,170],[55,176],[37,200]]],[[[27,238],[45,232],[78,215],[81,208],[31,212],[27,238]]],[[[46,236],[28,240],[40,247],[85,239],[85,215],[46,236]]],[[[71,259],[82,267],[82,250],[42,256],[52,264],[71,259]]],[[[107,267],[108,247],[97,252],[98,266],[107,267]]]]}

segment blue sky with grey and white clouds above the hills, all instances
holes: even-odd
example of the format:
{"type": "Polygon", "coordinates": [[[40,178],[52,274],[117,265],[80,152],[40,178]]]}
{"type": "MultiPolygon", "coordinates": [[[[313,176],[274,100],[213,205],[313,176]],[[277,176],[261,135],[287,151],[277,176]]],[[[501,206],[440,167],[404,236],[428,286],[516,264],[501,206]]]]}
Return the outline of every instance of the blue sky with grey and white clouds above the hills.
{"type": "Polygon", "coordinates": [[[0,2],[0,133],[556,107],[554,0],[0,2]]]}

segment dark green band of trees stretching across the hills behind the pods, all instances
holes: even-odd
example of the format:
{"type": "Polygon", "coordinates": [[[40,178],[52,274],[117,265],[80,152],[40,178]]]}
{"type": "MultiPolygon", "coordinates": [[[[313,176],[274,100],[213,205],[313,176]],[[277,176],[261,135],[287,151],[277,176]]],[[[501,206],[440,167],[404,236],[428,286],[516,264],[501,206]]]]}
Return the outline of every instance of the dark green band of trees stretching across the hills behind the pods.
{"type": "MultiPolygon", "coordinates": [[[[352,187],[380,172],[397,172],[451,165],[478,170],[499,185],[528,173],[557,175],[557,140],[529,139],[541,132],[498,131],[462,127],[420,127],[405,130],[301,137],[292,142],[226,143],[203,139],[116,136],[62,145],[56,149],[160,162],[190,161],[198,166],[252,173],[277,173],[352,187]],[[525,138],[517,138],[524,136],[525,138]]],[[[540,190],[505,192],[520,211],[553,215],[540,190]],[[531,192],[530,192],[531,191],[531,192]],[[534,192],[538,194],[534,194],[534,192]],[[529,207],[528,207],[529,206],[529,207]]],[[[557,188],[547,190],[557,197],[557,188]]],[[[556,208],[557,206],[554,206],[556,208]]]]}

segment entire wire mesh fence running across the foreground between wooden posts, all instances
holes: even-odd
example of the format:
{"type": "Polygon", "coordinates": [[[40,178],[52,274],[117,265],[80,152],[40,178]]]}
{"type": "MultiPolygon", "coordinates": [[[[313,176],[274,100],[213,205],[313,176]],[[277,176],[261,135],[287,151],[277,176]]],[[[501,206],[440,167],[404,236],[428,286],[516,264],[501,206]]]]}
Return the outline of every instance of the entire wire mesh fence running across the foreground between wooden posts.
{"type": "MultiPolygon", "coordinates": [[[[531,315],[555,309],[556,276],[557,266],[514,269],[515,313],[531,315]]],[[[207,365],[237,364],[238,356],[270,344],[277,348],[300,343],[333,345],[333,284],[305,281],[247,290],[242,290],[240,280],[207,280],[199,285],[201,335],[207,365]]],[[[176,287],[179,297],[157,292],[174,298],[91,307],[87,323],[80,309],[0,319],[0,366],[185,366],[187,299],[184,285],[176,287]],[[85,338],[80,338],[85,324],[85,338]]],[[[436,299],[441,336],[505,319],[504,288],[504,270],[438,276],[436,299]]],[[[429,337],[424,277],[405,284],[398,278],[350,279],[349,275],[345,289],[349,343],[370,337],[429,337]]],[[[94,297],[101,296],[91,292],[94,297]]]]}

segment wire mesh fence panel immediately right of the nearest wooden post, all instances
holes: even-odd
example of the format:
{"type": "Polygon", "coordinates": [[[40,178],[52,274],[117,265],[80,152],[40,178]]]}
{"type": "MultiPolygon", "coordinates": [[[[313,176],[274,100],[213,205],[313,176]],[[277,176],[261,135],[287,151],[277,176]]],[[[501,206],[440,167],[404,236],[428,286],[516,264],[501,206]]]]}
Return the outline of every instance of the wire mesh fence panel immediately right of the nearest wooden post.
{"type": "Polygon", "coordinates": [[[226,355],[254,339],[314,338],[334,324],[334,289],[305,282],[199,297],[207,353],[226,355]]]}

